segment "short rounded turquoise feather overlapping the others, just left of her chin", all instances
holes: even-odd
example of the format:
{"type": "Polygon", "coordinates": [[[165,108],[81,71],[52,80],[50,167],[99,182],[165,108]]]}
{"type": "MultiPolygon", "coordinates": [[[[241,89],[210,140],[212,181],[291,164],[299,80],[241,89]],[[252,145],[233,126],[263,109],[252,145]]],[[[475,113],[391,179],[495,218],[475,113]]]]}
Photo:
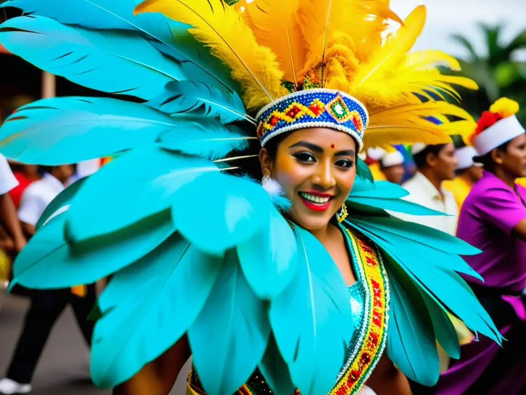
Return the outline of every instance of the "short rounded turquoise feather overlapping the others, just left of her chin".
{"type": "Polygon", "coordinates": [[[177,230],[202,251],[222,255],[268,226],[275,210],[260,184],[219,172],[181,186],[172,199],[177,230]],[[203,193],[208,191],[209,193],[203,193]],[[206,226],[196,226],[206,218],[206,226]]]}

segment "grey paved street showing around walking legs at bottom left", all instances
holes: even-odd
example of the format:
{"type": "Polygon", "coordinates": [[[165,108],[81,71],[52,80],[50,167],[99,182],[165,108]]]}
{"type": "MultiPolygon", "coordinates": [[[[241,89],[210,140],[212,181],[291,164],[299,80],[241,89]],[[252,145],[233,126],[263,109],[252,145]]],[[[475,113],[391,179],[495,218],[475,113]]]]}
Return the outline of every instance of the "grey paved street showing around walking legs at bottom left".
{"type": "MultiPolygon", "coordinates": [[[[8,297],[0,290],[0,377],[11,359],[27,308],[22,298],[8,297]]],[[[153,334],[155,335],[155,334],[153,334]]],[[[182,395],[184,378],[170,395],[182,395]]],[[[33,395],[110,395],[89,380],[89,353],[70,308],[58,320],[36,369],[33,395]]],[[[147,395],[147,394],[145,394],[147,395]]]]}

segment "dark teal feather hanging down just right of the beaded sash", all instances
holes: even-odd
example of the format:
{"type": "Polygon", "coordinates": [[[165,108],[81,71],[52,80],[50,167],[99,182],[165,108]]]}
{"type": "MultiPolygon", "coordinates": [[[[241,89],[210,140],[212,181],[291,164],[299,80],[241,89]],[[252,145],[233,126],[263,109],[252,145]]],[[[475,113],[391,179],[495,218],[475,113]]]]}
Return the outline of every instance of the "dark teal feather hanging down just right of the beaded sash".
{"type": "Polygon", "coordinates": [[[426,304],[413,283],[402,285],[393,265],[386,266],[390,291],[387,355],[407,378],[432,386],[438,381],[440,369],[426,304]]]}

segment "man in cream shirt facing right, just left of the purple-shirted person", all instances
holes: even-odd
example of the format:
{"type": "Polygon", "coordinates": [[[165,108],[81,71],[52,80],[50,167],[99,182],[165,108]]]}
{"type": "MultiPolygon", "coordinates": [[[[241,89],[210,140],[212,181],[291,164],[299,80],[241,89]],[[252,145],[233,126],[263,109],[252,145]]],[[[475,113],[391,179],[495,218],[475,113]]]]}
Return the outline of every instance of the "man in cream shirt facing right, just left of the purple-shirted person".
{"type": "Polygon", "coordinates": [[[453,143],[413,144],[411,154],[418,171],[402,184],[409,192],[404,199],[443,212],[448,216],[392,214],[403,220],[420,223],[454,236],[457,232],[458,206],[453,194],[442,187],[443,181],[453,180],[455,177],[457,159],[453,143]]]}

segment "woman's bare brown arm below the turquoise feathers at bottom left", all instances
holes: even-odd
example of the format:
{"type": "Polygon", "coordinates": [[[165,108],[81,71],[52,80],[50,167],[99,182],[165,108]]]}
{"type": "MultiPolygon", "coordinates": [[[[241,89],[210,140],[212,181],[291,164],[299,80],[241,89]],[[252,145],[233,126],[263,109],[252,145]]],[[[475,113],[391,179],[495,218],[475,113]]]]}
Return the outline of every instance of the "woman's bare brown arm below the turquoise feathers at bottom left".
{"type": "Polygon", "coordinates": [[[188,358],[190,346],[185,335],[134,377],[115,387],[113,395],[168,395],[188,358]]]}

